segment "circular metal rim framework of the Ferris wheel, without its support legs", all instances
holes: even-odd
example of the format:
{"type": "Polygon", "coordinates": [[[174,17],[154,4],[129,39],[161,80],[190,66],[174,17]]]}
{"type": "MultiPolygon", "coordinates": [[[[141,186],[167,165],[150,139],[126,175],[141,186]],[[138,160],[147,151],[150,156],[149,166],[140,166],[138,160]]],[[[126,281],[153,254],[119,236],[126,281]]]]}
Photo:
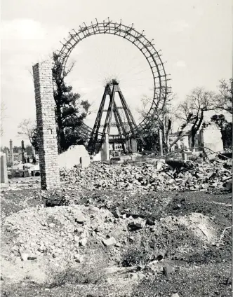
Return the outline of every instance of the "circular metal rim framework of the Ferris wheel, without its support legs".
{"type": "MultiPolygon", "coordinates": [[[[164,63],[161,60],[161,50],[157,51],[154,48],[154,39],[149,41],[144,34],[136,31],[134,29],[133,23],[131,26],[123,25],[120,22],[112,22],[112,20],[104,20],[103,22],[98,22],[95,19],[95,23],[91,22],[91,25],[87,26],[84,22],[82,26],[79,26],[79,30],[76,32],[72,29],[69,32],[69,39],[64,39],[65,42],[62,43],[62,48],[58,52],[59,62],[62,64],[62,71],[65,71],[67,60],[69,55],[72,53],[74,47],[82,40],[86,39],[88,36],[93,36],[97,34],[112,34],[120,36],[133,43],[133,45],[140,50],[142,55],[146,58],[149,67],[152,71],[153,83],[154,83],[154,95],[152,100],[152,105],[147,112],[147,115],[138,125],[140,132],[145,132],[152,126],[152,118],[156,120],[155,111],[157,113],[164,109],[166,104],[166,95],[170,92],[168,87],[168,74],[164,69],[164,63]]],[[[86,141],[91,137],[92,128],[85,123],[79,127],[79,133],[86,141]]],[[[131,132],[129,132],[131,133],[131,132]]],[[[110,136],[110,135],[109,135],[110,136]]],[[[131,137],[131,135],[128,135],[131,137]]]]}

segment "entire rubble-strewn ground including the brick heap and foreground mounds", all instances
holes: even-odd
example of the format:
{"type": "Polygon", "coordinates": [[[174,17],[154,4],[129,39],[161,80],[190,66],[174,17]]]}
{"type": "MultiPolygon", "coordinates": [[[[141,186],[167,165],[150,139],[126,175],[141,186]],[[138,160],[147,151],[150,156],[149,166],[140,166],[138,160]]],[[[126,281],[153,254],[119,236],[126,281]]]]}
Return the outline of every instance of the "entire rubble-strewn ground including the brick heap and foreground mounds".
{"type": "Polygon", "coordinates": [[[12,179],[1,191],[3,296],[230,296],[230,168],[193,165],[176,180],[162,162],[63,170],[56,191],[12,179]]]}

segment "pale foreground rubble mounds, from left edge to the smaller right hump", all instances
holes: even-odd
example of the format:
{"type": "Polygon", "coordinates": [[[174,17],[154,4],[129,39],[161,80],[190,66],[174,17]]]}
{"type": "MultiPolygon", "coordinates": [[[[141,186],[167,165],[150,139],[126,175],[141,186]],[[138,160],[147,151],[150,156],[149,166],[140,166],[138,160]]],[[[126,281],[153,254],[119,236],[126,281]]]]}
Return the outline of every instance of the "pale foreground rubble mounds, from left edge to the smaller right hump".
{"type": "MultiPolygon", "coordinates": [[[[18,278],[30,276],[36,281],[45,282],[51,268],[53,273],[67,267],[80,269],[81,265],[86,265],[85,269],[88,269],[88,265],[98,261],[105,268],[116,269],[118,263],[119,269],[121,266],[131,266],[132,270],[132,265],[137,263],[131,258],[134,256],[131,247],[139,248],[145,237],[161,238],[164,233],[180,233],[182,226],[185,226],[185,230],[191,230],[197,238],[197,249],[204,244],[214,244],[216,240],[211,220],[197,213],[167,216],[152,223],[139,216],[133,218],[121,214],[118,209],[112,213],[92,205],[23,209],[8,216],[2,224],[1,256],[6,260],[1,274],[11,278],[14,271],[18,278]],[[11,269],[9,265],[13,265],[11,269]]],[[[140,264],[140,271],[143,271],[140,276],[145,277],[147,273],[161,272],[166,268],[163,263],[159,264],[166,251],[158,247],[158,240],[151,250],[145,246],[147,260],[138,258],[141,262],[137,265],[140,264]]],[[[182,251],[176,249],[176,252],[182,251]]],[[[139,277],[136,273],[135,276],[139,277]]]]}

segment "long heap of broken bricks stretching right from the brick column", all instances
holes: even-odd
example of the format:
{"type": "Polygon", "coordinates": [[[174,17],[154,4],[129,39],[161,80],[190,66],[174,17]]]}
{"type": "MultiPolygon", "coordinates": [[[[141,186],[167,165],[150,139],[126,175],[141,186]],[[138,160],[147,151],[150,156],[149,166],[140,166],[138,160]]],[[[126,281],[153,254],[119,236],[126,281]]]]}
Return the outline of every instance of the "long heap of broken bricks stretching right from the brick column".
{"type": "Polygon", "coordinates": [[[230,182],[232,185],[231,167],[227,161],[199,159],[188,161],[185,167],[172,167],[165,160],[142,165],[93,163],[87,168],[62,169],[60,178],[80,190],[206,191],[222,188],[230,182]]]}

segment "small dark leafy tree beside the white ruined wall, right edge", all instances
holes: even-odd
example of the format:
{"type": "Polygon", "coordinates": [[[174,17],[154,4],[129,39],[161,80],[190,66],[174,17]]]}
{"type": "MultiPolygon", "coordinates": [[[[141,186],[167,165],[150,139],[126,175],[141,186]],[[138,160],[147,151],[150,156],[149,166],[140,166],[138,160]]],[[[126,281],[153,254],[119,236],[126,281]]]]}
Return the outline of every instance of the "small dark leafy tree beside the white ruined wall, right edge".
{"type": "Polygon", "coordinates": [[[232,146],[232,123],[227,122],[223,114],[215,114],[211,121],[220,127],[223,146],[232,146]]]}

